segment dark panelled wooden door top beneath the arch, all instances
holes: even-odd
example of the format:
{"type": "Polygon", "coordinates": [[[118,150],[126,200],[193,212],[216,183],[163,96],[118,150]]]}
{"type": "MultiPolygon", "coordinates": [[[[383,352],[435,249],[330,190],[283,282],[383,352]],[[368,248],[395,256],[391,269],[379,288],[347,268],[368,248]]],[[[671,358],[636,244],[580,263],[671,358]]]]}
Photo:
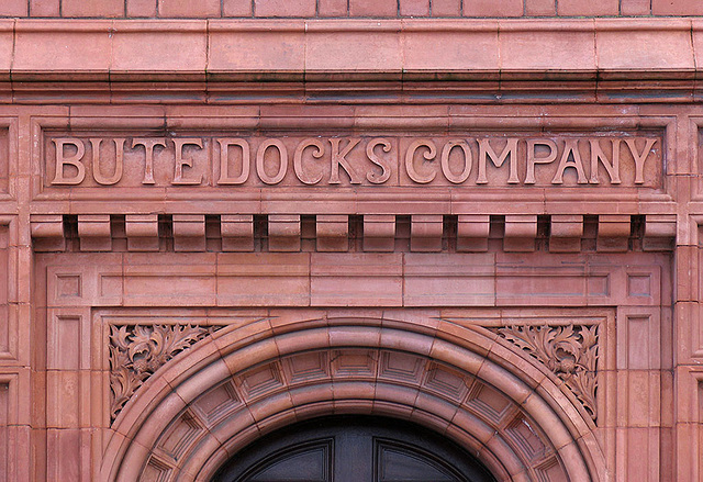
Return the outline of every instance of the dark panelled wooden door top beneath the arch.
{"type": "Polygon", "coordinates": [[[335,417],[270,434],[228,460],[215,482],[489,482],[473,457],[422,427],[335,417]]]}

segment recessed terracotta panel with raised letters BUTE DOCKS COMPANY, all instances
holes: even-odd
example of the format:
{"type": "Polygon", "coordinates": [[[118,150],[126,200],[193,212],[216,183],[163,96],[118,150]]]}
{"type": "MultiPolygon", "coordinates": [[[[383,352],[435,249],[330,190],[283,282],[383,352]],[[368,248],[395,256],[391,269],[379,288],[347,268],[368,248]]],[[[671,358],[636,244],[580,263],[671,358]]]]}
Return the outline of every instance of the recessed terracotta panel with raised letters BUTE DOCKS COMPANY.
{"type": "Polygon", "coordinates": [[[47,187],[659,187],[652,135],[47,136],[47,187]]]}

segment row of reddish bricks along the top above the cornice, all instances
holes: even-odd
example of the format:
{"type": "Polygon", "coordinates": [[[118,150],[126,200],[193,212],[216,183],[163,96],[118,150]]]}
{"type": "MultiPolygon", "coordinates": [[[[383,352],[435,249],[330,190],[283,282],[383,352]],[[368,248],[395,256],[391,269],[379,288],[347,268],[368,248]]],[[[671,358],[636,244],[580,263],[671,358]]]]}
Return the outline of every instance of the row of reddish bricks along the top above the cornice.
{"type": "Polygon", "coordinates": [[[4,0],[0,16],[703,16],[700,0],[4,0]],[[158,7],[157,7],[158,3],[158,7]]]}

